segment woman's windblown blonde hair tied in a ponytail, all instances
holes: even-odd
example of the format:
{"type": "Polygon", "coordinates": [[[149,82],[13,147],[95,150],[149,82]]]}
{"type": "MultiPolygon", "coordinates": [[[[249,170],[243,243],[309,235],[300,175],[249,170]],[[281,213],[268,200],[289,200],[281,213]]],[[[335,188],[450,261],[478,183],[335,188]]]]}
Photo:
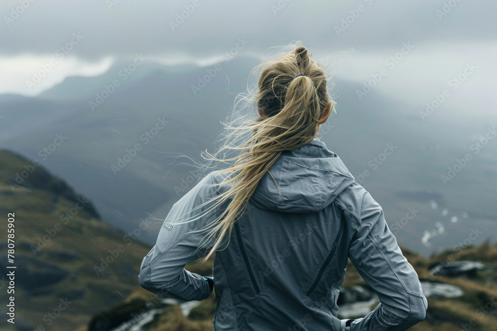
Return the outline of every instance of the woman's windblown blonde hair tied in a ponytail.
{"type": "MultiPolygon", "coordinates": [[[[278,54],[276,60],[258,64],[250,72],[252,75],[256,70],[261,70],[256,93],[248,93],[244,99],[253,102],[264,116],[244,119],[240,125],[227,125],[227,131],[231,131],[226,135],[227,142],[218,152],[210,154],[206,151],[204,154],[207,160],[227,166],[216,171],[226,175],[222,183],[213,184],[226,189],[218,191],[222,193],[209,201],[206,211],[186,222],[223,205],[227,204],[227,207],[207,226],[210,228],[208,239],[217,239],[202,262],[218,249],[227,232],[231,237],[234,222],[244,212],[260,179],[281,152],[303,146],[318,134],[318,122],[323,119],[331,101],[327,90],[328,77],[305,47],[296,45],[293,48],[278,54]],[[226,157],[227,150],[238,155],[226,157]],[[224,156],[221,157],[222,152],[224,156]]],[[[334,109],[334,102],[331,103],[330,112],[334,109]]]]}

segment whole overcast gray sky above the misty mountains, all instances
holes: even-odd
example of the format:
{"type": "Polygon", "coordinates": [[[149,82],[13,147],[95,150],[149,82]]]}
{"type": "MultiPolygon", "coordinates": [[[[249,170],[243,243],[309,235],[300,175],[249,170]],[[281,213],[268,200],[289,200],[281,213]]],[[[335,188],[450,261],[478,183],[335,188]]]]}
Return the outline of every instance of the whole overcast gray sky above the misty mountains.
{"type": "Polygon", "coordinates": [[[375,88],[413,104],[466,72],[451,105],[494,112],[496,12],[491,0],[2,0],[0,94],[36,95],[136,54],[208,66],[240,40],[240,52],[257,59],[299,40],[318,58],[334,55],[339,77],[366,83],[384,69],[375,88]]]}

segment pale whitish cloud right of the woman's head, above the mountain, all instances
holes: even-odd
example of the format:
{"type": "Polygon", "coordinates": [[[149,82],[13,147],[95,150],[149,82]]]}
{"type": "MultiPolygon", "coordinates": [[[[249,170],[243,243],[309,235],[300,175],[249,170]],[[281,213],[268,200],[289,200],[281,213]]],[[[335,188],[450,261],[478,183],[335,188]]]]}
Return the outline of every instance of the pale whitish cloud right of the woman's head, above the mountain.
{"type": "MultiPolygon", "coordinates": [[[[496,42],[412,46],[406,55],[401,54],[403,44],[377,52],[347,54],[340,59],[342,65],[336,76],[417,106],[431,103],[448,90],[450,95],[440,109],[457,115],[468,115],[469,110],[472,116],[495,113],[495,95],[489,93],[489,86],[497,85],[496,42]],[[398,61],[389,61],[396,56],[398,61]],[[382,69],[385,75],[380,74],[382,69]]],[[[366,94],[361,100],[367,102],[367,97],[366,94]]]]}

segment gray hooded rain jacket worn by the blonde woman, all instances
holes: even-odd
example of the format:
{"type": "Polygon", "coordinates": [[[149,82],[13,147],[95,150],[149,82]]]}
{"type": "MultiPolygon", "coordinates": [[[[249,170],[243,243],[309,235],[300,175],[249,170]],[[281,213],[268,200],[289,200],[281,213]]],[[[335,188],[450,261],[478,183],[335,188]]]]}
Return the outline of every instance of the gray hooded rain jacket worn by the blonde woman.
{"type": "MultiPolygon", "coordinates": [[[[340,158],[315,139],[285,151],[265,174],[214,259],[215,331],[407,330],[423,321],[427,301],[402,255],[383,210],[340,158]],[[337,318],[347,259],[381,303],[345,327],[337,318]]],[[[219,210],[185,224],[184,214],[216,194],[215,172],[177,201],[154,248],[143,259],[140,285],[179,300],[204,300],[208,280],[184,269],[205,255],[198,230],[219,210]]],[[[203,210],[197,207],[197,211],[203,210]]]]}

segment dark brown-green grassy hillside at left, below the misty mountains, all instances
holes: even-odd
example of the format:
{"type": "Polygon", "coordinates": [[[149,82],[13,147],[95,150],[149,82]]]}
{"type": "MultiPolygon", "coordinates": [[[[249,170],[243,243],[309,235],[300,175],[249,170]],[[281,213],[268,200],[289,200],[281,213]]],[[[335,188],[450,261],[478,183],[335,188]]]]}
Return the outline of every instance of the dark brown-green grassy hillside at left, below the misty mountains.
{"type": "MultiPolygon", "coordinates": [[[[139,233],[131,237],[102,222],[91,201],[10,150],[0,150],[0,211],[2,270],[8,270],[7,215],[15,215],[16,331],[75,330],[138,286],[150,250],[139,233]]],[[[5,274],[0,330],[11,331],[5,274]]]]}

